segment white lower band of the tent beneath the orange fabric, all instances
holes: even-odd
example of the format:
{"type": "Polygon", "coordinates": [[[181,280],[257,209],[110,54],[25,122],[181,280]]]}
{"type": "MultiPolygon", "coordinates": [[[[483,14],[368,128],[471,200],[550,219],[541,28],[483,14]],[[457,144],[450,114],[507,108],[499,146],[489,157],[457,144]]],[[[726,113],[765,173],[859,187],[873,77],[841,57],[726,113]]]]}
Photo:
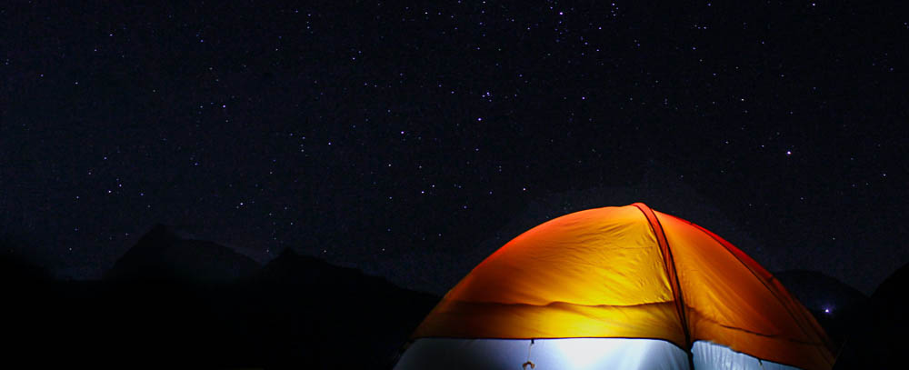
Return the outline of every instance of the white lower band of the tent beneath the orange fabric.
{"type": "MultiPolygon", "coordinates": [[[[692,353],[696,370],[797,370],[709,342],[694,343],[692,353]]],[[[395,370],[522,368],[687,370],[688,355],[669,342],[655,339],[420,338],[395,365],[395,370]]]]}

